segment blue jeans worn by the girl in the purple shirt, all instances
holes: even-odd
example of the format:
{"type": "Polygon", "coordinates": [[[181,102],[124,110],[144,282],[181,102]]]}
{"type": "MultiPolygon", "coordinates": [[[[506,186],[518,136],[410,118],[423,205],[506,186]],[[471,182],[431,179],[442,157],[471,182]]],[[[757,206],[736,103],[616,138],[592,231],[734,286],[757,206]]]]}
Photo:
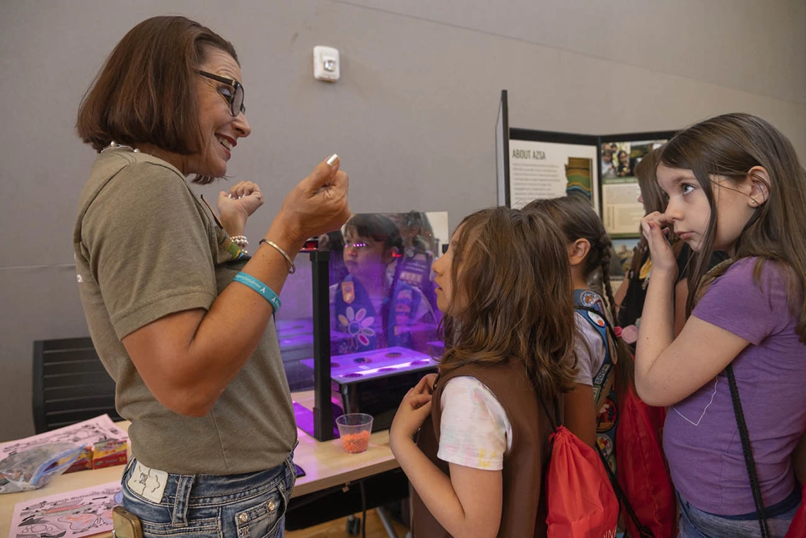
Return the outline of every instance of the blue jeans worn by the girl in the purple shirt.
{"type": "MultiPolygon", "coordinates": [[[[758,538],[761,536],[761,528],[754,515],[746,517],[710,514],[692,507],[679,494],[677,500],[680,506],[678,538],[758,538]]],[[[767,518],[772,538],[783,538],[798,507],[800,507],[800,490],[796,490],[775,507],[767,508],[768,513],[774,514],[767,518]],[[794,506],[792,506],[793,503],[794,506]]]]}

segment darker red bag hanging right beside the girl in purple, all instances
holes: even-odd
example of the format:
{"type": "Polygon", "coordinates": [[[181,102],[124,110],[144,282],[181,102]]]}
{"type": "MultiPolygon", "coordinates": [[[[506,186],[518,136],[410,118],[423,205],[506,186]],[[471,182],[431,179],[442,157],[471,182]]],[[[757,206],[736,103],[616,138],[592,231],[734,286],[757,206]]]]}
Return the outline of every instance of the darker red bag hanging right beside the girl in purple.
{"type": "Polygon", "coordinates": [[[646,405],[632,387],[624,392],[618,407],[616,468],[618,484],[629,500],[623,519],[627,536],[675,538],[677,499],[660,441],[666,412],[646,405]],[[629,514],[630,510],[634,513],[629,514]]]}

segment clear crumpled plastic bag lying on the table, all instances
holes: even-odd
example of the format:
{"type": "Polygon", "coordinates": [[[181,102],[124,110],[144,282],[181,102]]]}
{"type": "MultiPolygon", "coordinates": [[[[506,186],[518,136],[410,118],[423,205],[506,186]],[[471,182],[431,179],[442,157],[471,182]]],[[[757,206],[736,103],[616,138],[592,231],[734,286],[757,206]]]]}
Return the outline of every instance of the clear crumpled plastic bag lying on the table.
{"type": "Polygon", "coordinates": [[[68,470],[81,445],[51,443],[11,454],[0,461],[0,493],[36,490],[68,470]]]}

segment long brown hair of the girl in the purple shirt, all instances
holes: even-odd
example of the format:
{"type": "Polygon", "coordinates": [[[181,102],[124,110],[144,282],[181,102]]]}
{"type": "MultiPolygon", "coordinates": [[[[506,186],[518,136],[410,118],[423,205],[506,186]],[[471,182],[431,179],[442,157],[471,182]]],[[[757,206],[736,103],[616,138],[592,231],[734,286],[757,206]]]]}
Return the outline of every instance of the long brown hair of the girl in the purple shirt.
{"type": "MultiPolygon", "coordinates": [[[[787,137],[762,118],[724,114],[676,134],[663,148],[659,163],[691,170],[711,206],[703,247],[694,255],[694,270],[688,279],[688,314],[696,304],[696,291],[708,272],[708,259],[713,254],[717,234],[717,206],[711,176],[738,183],[746,180],[750,168],[761,166],[767,170],[769,197],[755,209],[739,234],[733,262],[758,257],[754,271],[756,283],[767,260],[786,268],[791,312],[800,317],[797,332],[800,341],[806,343],[806,172],[787,137]]],[[[724,274],[729,266],[729,263],[718,266],[708,275],[709,279],[724,274]]]]}

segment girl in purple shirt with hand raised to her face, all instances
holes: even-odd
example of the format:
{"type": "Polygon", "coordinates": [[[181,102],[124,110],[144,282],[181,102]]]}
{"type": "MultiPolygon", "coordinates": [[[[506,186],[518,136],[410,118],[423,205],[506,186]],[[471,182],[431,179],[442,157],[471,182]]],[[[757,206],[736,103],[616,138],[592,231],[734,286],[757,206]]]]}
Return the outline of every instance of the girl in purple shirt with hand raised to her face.
{"type": "Polygon", "coordinates": [[[793,460],[806,431],[804,168],[774,126],[725,114],[671,139],[657,175],[668,205],[642,220],[653,268],[635,384],[646,403],[670,406],[679,536],[783,536],[801,502],[793,460]],[[670,233],[696,252],[676,338],[670,233]],[[707,271],[714,250],[730,259],[707,271]]]}

